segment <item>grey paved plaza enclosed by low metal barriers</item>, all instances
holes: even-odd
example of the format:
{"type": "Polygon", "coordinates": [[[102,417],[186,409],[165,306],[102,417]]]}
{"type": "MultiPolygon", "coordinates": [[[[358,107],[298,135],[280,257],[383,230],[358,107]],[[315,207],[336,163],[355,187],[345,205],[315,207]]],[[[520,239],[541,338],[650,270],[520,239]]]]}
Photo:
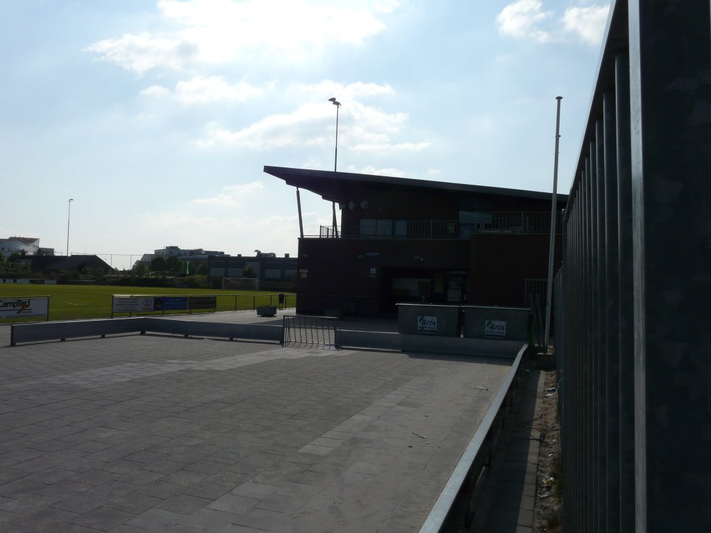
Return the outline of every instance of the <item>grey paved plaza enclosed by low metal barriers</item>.
{"type": "Polygon", "coordinates": [[[0,326],[14,533],[417,531],[510,365],[171,335],[8,345],[0,326]]]}

